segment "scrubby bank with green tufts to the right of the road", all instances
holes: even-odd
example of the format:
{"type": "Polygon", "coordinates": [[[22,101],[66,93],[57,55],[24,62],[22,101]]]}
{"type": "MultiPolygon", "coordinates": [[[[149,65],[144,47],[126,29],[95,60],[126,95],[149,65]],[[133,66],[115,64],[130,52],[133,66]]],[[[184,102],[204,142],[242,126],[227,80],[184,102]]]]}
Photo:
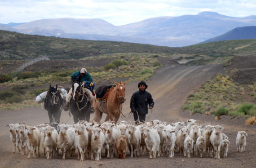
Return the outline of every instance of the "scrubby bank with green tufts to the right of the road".
{"type": "Polygon", "coordinates": [[[251,85],[233,83],[229,76],[218,74],[206,82],[195,94],[188,96],[182,110],[192,114],[213,114],[214,116],[255,116],[256,105],[243,102],[246,92],[255,93],[256,82],[251,85]]]}

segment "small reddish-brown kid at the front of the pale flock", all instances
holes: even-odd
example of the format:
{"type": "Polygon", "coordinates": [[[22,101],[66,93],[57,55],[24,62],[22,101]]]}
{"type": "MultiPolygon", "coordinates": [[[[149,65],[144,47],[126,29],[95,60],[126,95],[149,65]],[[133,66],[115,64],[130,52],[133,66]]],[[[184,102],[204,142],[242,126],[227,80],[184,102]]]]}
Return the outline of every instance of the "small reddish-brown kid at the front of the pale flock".
{"type": "Polygon", "coordinates": [[[116,142],[116,151],[117,151],[117,158],[125,159],[126,151],[127,151],[127,137],[126,135],[120,135],[116,142]]]}

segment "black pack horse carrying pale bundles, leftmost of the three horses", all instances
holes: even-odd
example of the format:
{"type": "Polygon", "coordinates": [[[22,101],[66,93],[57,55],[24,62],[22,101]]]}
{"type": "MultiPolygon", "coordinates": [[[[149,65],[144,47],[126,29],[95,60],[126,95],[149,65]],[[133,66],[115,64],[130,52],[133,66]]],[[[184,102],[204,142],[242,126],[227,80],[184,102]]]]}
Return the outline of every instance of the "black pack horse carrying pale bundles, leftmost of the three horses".
{"type": "Polygon", "coordinates": [[[58,91],[58,85],[52,87],[50,85],[49,90],[45,96],[45,109],[48,111],[50,123],[53,121],[60,122],[61,111],[63,109],[63,98],[58,91]]]}

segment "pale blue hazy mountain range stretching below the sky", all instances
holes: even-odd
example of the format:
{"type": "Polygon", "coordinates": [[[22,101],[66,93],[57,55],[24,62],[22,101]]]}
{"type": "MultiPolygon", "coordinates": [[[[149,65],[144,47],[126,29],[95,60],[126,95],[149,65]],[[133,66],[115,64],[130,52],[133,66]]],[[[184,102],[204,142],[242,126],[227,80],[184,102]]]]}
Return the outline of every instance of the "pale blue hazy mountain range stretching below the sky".
{"type": "Polygon", "coordinates": [[[256,26],[256,16],[240,18],[200,12],[197,15],[154,17],[121,26],[102,19],[72,18],[10,24],[0,24],[0,29],[42,36],[182,47],[205,42],[237,27],[256,26]]]}

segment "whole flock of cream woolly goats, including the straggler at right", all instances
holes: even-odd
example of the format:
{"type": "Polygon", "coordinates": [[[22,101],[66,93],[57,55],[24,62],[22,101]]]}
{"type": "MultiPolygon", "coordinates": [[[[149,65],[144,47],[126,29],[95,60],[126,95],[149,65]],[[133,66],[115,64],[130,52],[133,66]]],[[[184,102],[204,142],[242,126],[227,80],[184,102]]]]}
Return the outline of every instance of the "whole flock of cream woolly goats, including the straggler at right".
{"type": "MultiPolygon", "coordinates": [[[[11,123],[11,142],[21,154],[26,150],[28,158],[40,155],[40,147],[47,160],[54,158],[59,150],[63,160],[74,157],[77,150],[78,160],[101,160],[101,153],[107,158],[125,158],[129,152],[131,157],[159,156],[174,157],[174,153],[185,157],[227,157],[229,140],[220,125],[202,127],[195,120],[167,123],[159,120],[133,125],[129,122],[94,123],[80,121],[74,125],[52,123],[27,126],[24,123],[11,123]],[[38,153],[38,154],[37,154],[38,153]]],[[[238,152],[245,151],[245,131],[239,131],[236,137],[238,152]]]]}

